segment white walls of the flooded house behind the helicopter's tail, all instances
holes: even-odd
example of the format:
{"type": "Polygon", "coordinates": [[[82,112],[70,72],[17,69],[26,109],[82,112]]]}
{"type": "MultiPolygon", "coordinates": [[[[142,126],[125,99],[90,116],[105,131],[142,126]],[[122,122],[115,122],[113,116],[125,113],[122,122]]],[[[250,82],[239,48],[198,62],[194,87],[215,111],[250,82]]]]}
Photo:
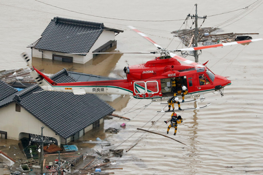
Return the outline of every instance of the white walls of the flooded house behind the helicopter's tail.
{"type": "Polygon", "coordinates": [[[62,56],[66,56],[66,57],[73,57],[73,63],[84,64],[93,58],[92,52],[95,49],[98,49],[100,46],[104,45],[106,42],[108,42],[110,40],[115,40],[115,32],[104,30],[102,32],[102,34],[98,37],[98,39],[94,43],[94,45],[91,47],[90,52],[86,56],[66,55],[65,53],[43,50],[43,57],[42,57],[42,51],[39,51],[38,49],[32,48],[32,57],[45,58],[45,59],[52,60],[52,55],[55,54],[55,55],[62,55],[62,56]]]}

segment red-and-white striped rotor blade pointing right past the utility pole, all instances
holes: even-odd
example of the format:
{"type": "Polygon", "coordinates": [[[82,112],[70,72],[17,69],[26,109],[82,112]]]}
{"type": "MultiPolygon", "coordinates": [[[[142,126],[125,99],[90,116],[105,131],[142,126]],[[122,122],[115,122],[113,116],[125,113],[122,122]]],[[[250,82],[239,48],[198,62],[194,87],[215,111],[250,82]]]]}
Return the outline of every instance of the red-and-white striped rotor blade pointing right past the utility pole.
{"type": "Polygon", "coordinates": [[[249,43],[249,42],[260,41],[260,40],[263,40],[263,38],[249,39],[249,40],[235,41],[235,42],[226,42],[226,43],[214,44],[210,46],[190,47],[190,48],[185,48],[185,49],[177,49],[177,51],[201,50],[201,49],[208,49],[208,48],[214,48],[214,47],[220,47],[220,46],[230,46],[230,45],[235,45],[235,44],[249,43]]]}

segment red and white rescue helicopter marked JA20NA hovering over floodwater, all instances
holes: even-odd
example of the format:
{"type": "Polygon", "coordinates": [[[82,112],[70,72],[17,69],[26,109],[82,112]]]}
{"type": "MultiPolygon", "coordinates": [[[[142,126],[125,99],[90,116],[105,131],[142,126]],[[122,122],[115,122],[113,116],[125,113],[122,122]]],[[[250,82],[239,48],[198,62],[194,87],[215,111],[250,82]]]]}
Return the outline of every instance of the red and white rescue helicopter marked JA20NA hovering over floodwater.
{"type": "MultiPolygon", "coordinates": [[[[234,44],[242,44],[263,40],[251,39],[237,42],[229,42],[222,44],[215,44],[211,46],[199,46],[193,48],[167,50],[159,46],[148,36],[140,32],[134,27],[130,28],[139,35],[146,38],[154,46],[157,47],[156,52],[140,52],[140,53],[159,53],[160,57],[147,61],[145,64],[132,65],[124,67],[127,79],[121,80],[107,80],[107,81],[93,81],[93,82],[68,82],[56,83],[42,72],[31,65],[31,60],[26,53],[21,56],[26,60],[28,66],[31,68],[31,76],[45,91],[59,91],[71,92],[76,95],[91,94],[120,94],[133,96],[136,99],[151,99],[151,100],[167,100],[176,93],[176,83],[186,86],[188,93],[185,98],[194,97],[197,101],[200,95],[218,91],[223,96],[225,86],[231,85],[231,81],[226,77],[215,75],[206,67],[206,63],[198,64],[191,60],[187,60],[175,54],[179,51],[193,51],[206,48],[213,48],[219,46],[229,46],[234,44]]],[[[83,53],[79,53],[83,54],[83,53]]],[[[112,53],[111,53],[112,54],[112,53]]],[[[178,95],[180,96],[180,94],[178,95]]],[[[206,108],[204,107],[188,108],[183,110],[194,110],[206,108]]],[[[163,110],[161,112],[164,112],[163,110]]]]}

